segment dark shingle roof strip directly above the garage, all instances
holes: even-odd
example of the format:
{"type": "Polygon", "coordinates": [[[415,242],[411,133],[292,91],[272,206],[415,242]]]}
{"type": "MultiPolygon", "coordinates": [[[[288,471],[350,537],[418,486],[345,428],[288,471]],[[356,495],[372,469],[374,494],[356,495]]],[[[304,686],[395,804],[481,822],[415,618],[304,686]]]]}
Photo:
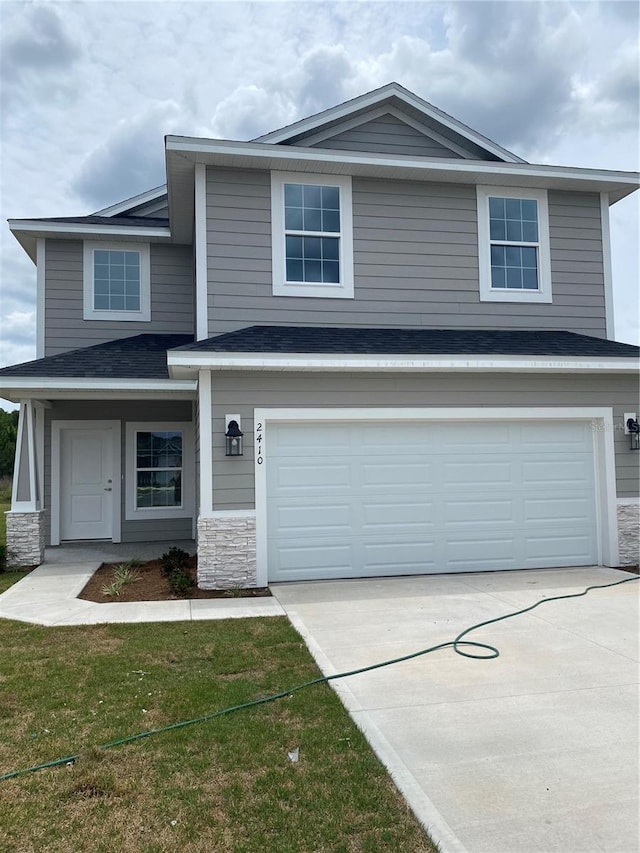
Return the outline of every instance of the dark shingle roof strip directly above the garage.
{"type": "Polygon", "coordinates": [[[574,332],[250,326],[180,347],[194,352],[534,355],[637,358],[638,347],[574,332]]]}

